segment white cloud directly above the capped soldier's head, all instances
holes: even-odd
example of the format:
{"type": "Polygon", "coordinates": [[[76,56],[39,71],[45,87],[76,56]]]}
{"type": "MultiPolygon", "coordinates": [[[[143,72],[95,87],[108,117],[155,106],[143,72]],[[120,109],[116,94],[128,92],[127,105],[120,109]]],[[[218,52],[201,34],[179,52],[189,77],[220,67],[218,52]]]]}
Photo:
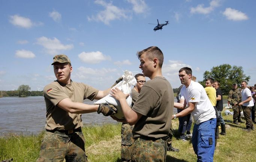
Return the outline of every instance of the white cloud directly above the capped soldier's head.
{"type": "Polygon", "coordinates": [[[36,44],[43,46],[47,53],[49,54],[58,54],[61,50],[70,50],[74,46],[73,44],[62,44],[57,38],[47,38],[47,37],[40,37],[37,38],[36,44]]]}

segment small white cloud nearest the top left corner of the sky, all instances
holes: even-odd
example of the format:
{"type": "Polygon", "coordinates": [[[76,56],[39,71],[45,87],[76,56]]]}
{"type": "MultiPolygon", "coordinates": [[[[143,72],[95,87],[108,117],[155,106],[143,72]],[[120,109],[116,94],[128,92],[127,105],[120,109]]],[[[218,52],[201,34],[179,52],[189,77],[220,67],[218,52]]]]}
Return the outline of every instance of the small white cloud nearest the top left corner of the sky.
{"type": "Polygon", "coordinates": [[[10,16],[9,20],[13,25],[22,28],[31,28],[33,26],[32,21],[29,18],[25,18],[19,15],[10,16]]]}

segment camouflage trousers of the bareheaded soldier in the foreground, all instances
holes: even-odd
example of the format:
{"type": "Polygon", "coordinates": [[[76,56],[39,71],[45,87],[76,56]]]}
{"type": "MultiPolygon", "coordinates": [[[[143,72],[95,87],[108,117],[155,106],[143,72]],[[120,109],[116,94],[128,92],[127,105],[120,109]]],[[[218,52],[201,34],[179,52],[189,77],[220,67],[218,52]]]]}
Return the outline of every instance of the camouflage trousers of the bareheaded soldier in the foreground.
{"type": "Polygon", "coordinates": [[[148,141],[137,138],[133,144],[132,162],[166,162],[165,140],[148,141]]]}

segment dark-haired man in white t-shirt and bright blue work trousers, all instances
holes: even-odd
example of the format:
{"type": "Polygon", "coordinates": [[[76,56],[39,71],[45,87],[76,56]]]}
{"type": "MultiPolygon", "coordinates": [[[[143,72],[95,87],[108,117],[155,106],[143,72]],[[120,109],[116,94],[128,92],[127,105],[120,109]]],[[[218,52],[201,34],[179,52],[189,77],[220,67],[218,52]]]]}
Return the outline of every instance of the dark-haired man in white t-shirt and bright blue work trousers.
{"type": "Polygon", "coordinates": [[[192,70],[190,68],[184,67],[179,70],[179,79],[181,84],[185,86],[181,88],[180,103],[175,102],[174,107],[184,110],[172,115],[172,119],[191,113],[195,122],[192,144],[197,155],[197,162],[213,162],[216,128],[215,110],[203,86],[192,81],[191,77],[192,70]]]}

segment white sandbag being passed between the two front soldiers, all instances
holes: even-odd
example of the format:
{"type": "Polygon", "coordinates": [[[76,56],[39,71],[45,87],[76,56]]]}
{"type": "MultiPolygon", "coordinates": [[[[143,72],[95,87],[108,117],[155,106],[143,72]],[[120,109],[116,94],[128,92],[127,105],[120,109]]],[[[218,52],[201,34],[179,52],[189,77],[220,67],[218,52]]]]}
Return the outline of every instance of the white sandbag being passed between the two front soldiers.
{"type": "MultiPolygon", "coordinates": [[[[130,96],[128,96],[127,99],[126,99],[126,102],[131,107],[131,103],[132,103],[131,89],[132,89],[132,85],[135,86],[137,84],[137,80],[133,77],[133,73],[131,71],[128,71],[128,70],[125,70],[125,72],[122,75],[122,77],[123,77],[123,80],[120,81],[113,88],[118,88],[124,94],[130,94],[130,96]]],[[[117,113],[115,113],[114,116],[117,119],[123,119],[124,118],[123,111],[122,111],[122,108],[120,106],[120,102],[117,101],[111,94],[108,94],[107,96],[105,96],[102,99],[98,100],[94,104],[114,105],[116,107],[116,109],[117,109],[117,113]]]]}

